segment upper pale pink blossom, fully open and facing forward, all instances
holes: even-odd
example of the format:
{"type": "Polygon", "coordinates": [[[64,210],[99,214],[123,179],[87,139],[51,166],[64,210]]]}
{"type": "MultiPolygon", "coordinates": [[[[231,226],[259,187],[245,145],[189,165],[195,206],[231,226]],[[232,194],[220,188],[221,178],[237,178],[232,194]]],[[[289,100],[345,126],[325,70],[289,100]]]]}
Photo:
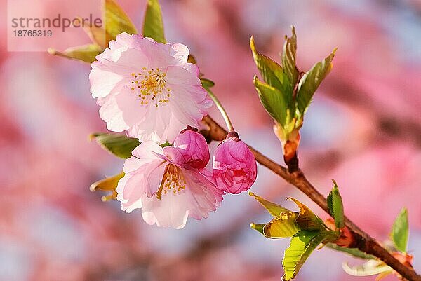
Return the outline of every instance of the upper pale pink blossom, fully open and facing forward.
{"type": "Polygon", "coordinates": [[[173,142],[187,125],[197,127],[212,101],[188,63],[189,49],[126,33],[92,63],[92,96],[108,130],[140,142],[173,142]]]}

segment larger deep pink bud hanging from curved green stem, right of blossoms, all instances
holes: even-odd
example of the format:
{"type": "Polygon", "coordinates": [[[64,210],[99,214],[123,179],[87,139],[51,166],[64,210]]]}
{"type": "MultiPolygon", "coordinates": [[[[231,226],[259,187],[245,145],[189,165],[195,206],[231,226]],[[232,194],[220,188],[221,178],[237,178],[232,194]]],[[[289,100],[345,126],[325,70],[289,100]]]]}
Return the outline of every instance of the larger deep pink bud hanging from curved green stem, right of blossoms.
{"type": "Polygon", "coordinates": [[[213,156],[213,177],[218,189],[238,194],[250,189],[257,177],[258,167],[253,153],[238,135],[230,133],[213,156]]]}

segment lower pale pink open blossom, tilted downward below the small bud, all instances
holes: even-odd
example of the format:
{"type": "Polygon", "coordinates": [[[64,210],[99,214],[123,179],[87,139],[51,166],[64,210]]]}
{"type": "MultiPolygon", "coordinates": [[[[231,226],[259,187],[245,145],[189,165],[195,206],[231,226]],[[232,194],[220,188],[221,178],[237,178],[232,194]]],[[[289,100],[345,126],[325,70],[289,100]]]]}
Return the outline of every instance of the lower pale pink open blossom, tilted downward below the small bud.
{"type": "MultiPolygon", "coordinates": [[[[175,142],[182,143],[185,134],[175,142]]],[[[197,138],[189,131],[187,135],[191,135],[191,139],[197,138]]],[[[142,208],[142,217],[147,224],[173,228],[183,228],[188,217],[202,219],[215,211],[222,201],[222,191],[207,178],[208,170],[193,167],[198,166],[198,162],[192,161],[192,156],[201,155],[203,148],[190,143],[188,149],[162,148],[152,141],[135,148],[133,156],[124,163],[126,175],[116,188],[121,209],[131,212],[142,208]],[[187,157],[189,153],[192,156],[187,157]]],[[[207,148],[206,142],[205,145],[207,148]]]]}

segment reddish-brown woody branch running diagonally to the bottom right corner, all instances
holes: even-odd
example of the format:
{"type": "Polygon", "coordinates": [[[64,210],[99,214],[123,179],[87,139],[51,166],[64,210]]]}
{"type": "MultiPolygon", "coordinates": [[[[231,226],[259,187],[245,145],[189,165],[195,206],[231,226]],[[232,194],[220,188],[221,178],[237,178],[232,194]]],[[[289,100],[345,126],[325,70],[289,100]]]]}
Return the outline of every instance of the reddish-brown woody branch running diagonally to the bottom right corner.
{"type": "MultiPolygon", "coordinates": [[[[221,141],[227,137],[227,131],[224,130],[224,128],[222,128],[218,123],[216,123],[210,116],[205,116],[203,118],[203,123],[208,125],[209,128],[207,131],[207,138],[213,139],[215,141],[221,141]]],[[[283,167],[282,165],[279,165],[273,160],[267,158],[259,151],[253,149],[253,147],[249,147],[250,150],[254,153],[255,158],[258,163],[260,163],[260,165],[267,167],[269,170],[272,170],[272,172],[278,174],[280,177],[288,181],[288,183],[300,189],[302,193],[305,193],[305,195],[312,199],[314,203],[319,205],[321,209],[329,214],[326,198],[307,180],[301,170],[289,173],[286,167],[283,167]]],[[[368,233],[361,230],[359,226],[356,226],[356,224],[354,224],[347,217],[345,217],[345,225],[349,228],[355,238],[355,242],[352,247],[356,247],[361,251],[366,252],[367,254],[376,256],[378,259],[387,263],[388,266],[396,270],[397,273],[399,273],[407,280],[421,281],[421,276],[417,275],[413,268],[404,266],[400,261],[395,259],[394,256],[392,256],[392,254],[387,251],[387,249],[382,247],[379,242],[370,237],[368,233]]]]}

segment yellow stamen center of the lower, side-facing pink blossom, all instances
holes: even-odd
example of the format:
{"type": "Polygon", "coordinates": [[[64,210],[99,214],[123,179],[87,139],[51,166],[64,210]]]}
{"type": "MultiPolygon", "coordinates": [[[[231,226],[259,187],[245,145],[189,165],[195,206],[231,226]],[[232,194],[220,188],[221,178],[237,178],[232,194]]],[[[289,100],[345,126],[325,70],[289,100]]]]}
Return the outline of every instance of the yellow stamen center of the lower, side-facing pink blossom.
{"type": "Polygon", "coordinates": [[[162,199],[163,195],[173,193],[174,195],[184,192],[186,189],[186,179],[179,167],[168,164],[163,173],[161,186],[156,191],[156,198],[162,199]]]}

